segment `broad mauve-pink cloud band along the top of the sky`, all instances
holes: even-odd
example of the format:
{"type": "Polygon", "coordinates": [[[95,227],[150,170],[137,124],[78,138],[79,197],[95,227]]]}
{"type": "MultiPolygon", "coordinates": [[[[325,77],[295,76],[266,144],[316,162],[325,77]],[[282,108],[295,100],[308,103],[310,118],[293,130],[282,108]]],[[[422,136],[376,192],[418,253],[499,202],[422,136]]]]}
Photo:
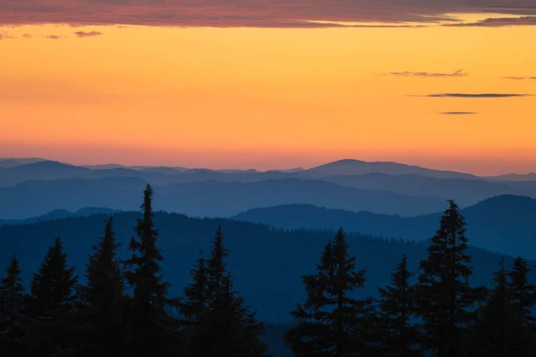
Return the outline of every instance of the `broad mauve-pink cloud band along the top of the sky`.
{"type": "MultiPolygon", "coordinates": [[[[495,7],[493,12],[523,17],[518,21],[510,20],[512,25],[532,24],[536,9],[525,6],[526,0],[502,2],[504,6],[495,7]]],[[[490,12],[489,7],[482,4],[482,0],[0,0],[0,24],[411,27],[408,22],[459,22],[445,13],[490,12]],[[352,22],[355,25],[351,25],[352,22]],[[386,25],[358,25],[360,22],[386,25]]],[[[495,21],[495,26],[499,26],[498,22],[495,21]]]]}

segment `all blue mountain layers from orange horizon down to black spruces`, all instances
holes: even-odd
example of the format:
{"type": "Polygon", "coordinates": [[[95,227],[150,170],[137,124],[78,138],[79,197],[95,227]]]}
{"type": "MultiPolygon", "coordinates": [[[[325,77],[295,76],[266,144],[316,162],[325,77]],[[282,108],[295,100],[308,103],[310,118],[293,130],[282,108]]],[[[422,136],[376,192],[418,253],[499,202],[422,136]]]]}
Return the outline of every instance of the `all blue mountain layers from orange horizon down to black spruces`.
{"type": "Polygon", "coordinates": [[[362,296],[375,296],[377,286],[389,283],[404,253],[417,270],[446,199],[463,207],[474,285],[490,283],[502,254],[507,265],[516,255],[536,260],[531,174],[477,177],[356,160],[263,172],[9,158],[0,159],[0,201],[6,202],[0,206],[0,264],[17,254],[27,283],[59,234],[83,280],[87,254],[110,215],[126,257],[147,183],[160,210],[155,224],[172,293],[180,295],[199,249],[210,249],[221,224],[236,288],[266,321],[289,321],[288,311],[304,296],[301,275],[314,271],[319,251],[340,226],[351,232],[358,268],[367,268],[362,296]]]}

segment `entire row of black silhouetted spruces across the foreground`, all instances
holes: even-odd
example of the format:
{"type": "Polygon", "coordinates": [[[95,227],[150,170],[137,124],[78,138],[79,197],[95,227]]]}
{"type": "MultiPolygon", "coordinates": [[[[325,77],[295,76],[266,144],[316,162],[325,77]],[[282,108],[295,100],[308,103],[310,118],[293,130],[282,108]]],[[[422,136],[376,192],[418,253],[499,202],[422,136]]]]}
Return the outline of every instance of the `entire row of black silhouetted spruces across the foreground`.
{"type": "Polygon", "coordinates": [[[419,269],[408,268],[406,252],[398,252],[391,283],[379,287],[377,297],[355,293],[376,282],[350,254],[342,228],[326,242],[316,267],[287,267],[297,275],[315,270],[302,276],[304,300],[289,312],[293,323],[286,329],[265,326],[255,312],[260,307],[250,307],[235,290],[241,271],[227,268],[221,226],[210,252],[191,257],[182,295],[172,296],[162,274],[165,251],[158,245],[152,200],[147,185],[124,259],[114,219],[107,219],[88,252],[84,279],[68,264],[59,236],[43,252],[28,291],[20,261],[12,257],[0,282],[2,355],[268,356],[267,338],[282,334],[294,355],[303,357],[536,355],[536,286],[528,262],[518,257],[507,269],[503,259],[489,287],[470,284],[466,224],[453,201],[419,269]]]}

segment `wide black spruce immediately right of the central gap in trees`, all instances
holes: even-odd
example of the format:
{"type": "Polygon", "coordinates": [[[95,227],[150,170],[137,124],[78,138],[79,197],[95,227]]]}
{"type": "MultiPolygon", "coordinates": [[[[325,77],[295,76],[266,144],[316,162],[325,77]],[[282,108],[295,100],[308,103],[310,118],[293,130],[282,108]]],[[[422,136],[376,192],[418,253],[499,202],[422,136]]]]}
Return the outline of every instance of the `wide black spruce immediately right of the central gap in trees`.
{"type": "Polygon", "coordinates": [[[316,274],[302,277],[307,300],[291,312],[297,325],[285,334],[296,356],[366,354],[362,317],[367,301],[350,297],[364,286],[365,270],[355,270],[345,238],[341,228],[325,246],[316,274]]]}

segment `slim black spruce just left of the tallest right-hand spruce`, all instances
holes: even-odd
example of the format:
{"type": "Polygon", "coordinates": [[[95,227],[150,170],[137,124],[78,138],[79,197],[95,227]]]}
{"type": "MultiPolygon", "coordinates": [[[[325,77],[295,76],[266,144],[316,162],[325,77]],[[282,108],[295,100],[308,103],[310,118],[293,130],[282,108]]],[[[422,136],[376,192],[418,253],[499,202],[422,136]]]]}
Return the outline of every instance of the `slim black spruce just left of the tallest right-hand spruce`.
{"type": "Polygon", "coordinates": [[[407,270],[404,254],[391,275],[391,286],[378,288],[379,353],[390,357],[418,356],[418,331],[411,323],[414,315],[414,289],[410,285],[413,273],[407,270]]]}

